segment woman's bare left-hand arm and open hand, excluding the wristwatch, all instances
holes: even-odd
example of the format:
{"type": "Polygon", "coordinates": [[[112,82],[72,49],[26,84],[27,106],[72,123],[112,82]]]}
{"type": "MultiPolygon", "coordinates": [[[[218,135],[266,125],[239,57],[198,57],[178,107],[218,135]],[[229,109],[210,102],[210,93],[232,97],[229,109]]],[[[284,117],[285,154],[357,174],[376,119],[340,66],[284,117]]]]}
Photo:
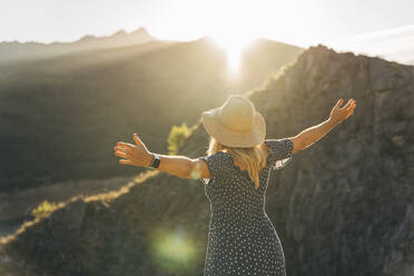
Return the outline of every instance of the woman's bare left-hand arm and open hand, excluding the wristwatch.
{"type": "MultiPolygon", "coordinates": [[[[152,152],[147,149],[137,134],[134,134],[134,140],[137,145],[119,141],[114,148],[116,150],[115,155],[124,158],[119,160],[119,164],[135,167],[150,167],[154,159],[152,152]]],[[[208,177],[206,165],[200,160],[193,160],[186,156],[169,155],[159,155],[159,158],[160,164],[157,170],[180,178],[190,178],[191,171],[197,167],[203,177],[208,177]]]]}

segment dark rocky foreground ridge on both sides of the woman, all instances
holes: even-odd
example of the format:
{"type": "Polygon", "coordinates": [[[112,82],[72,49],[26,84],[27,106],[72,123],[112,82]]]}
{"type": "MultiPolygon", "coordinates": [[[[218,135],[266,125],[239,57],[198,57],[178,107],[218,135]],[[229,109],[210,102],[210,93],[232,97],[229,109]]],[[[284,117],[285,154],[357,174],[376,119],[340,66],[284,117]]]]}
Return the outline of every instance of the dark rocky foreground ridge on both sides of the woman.
{"type": "MultiPolygon", "coordinates": [[[[411,66],[317,46],[246,92],[267,138],[319,124],[338,98],[358,102],[349,119],[272,172],[266,213],[288,275],[412,275],[413,77],[411,66]]],[[[178,154],[205,156],[207,142],[198,121],[178,154]]],[[[73,198],[27,224],[3,240],[0,272],[201,276],[210,207],[203,185],[147,174],[119,194],[73,198]]]]}

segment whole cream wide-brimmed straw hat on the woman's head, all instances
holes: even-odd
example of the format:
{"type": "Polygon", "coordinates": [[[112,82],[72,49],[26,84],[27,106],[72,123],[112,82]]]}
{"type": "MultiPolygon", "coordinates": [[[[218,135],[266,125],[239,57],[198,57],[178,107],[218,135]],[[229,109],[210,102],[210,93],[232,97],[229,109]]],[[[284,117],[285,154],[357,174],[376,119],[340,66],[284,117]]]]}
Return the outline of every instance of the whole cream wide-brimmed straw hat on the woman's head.
{"type": "Polygon", "coordinates": [[[265,119],[244,96],[230,95],[221,107],[203,112],[201,121],[210,136],[228,147],[249,148],[265,141],[265,119]]]}

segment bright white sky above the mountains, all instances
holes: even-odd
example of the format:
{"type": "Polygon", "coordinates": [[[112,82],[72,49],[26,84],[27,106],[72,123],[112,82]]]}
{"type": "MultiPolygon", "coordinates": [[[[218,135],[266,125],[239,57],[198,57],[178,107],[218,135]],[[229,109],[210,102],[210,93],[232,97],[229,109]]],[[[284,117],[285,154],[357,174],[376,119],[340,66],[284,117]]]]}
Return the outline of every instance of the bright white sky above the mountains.
{"type": "Polygon", "coordinates": [[[1,0],[0,41],[69,42],[145,27],[159,39],[308,47],[414,26],[413,11],[413,0],[1,0]]]}

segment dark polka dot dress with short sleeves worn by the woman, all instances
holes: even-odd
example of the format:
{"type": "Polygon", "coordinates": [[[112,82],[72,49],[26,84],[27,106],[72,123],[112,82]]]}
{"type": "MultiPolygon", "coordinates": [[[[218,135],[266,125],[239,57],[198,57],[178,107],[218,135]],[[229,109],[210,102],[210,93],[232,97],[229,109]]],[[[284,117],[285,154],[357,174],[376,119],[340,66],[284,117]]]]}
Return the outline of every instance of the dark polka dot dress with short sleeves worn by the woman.
{"type": "Polygon", "coordinates": [[[292,159],[293,141],[266,139],[269,156],[255,189],[247,170],[240,170],[230,154],[199,157],[211,178],[198,178],[210,201],[210,223],[204,276],[285,276],[285,256],[277,233],[265,213],[270,169],[292,159]]]}

